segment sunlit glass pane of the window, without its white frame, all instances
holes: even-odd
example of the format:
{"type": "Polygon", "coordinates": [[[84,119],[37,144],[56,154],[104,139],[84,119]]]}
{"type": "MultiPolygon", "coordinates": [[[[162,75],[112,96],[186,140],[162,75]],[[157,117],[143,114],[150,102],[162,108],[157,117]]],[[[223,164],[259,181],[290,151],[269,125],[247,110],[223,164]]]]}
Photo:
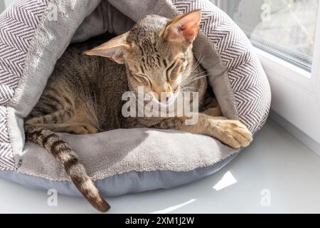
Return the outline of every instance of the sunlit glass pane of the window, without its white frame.
{"type": "Polygon", "coordinates": [[[254,46],[311,71],[319,0],[236,0],[229,16],[254,46]]]}

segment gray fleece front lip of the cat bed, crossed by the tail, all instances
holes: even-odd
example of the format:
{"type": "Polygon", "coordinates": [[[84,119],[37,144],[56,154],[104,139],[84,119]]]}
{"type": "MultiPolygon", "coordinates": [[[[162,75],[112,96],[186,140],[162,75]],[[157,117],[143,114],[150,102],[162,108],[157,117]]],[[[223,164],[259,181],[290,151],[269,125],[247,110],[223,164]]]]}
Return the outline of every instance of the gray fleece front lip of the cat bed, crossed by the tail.
{"type": "MultiPolygon", "coordinates": [[[[60,136],[77,152],[92,180],[130,171],[185,172],[208,167],[239,150],[208,136],[177,130],[117,129],[95,135],[60,136]]],[[[69,180],[60,163],[38,145],[27,142],[19,172],[69,180]]]]}

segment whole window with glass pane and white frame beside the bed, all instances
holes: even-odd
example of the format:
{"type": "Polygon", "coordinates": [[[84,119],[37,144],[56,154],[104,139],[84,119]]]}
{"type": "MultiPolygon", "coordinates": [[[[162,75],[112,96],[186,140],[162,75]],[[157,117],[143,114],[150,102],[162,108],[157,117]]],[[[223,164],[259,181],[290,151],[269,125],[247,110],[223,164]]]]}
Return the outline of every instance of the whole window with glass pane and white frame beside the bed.
{"type": "Polygon", "coordinates": [[[270,81],[272,114],[285,120],[278,123],[306,145],[316,142],[320,155],[319,0],[211,1],[255,46],[270,81]]]}

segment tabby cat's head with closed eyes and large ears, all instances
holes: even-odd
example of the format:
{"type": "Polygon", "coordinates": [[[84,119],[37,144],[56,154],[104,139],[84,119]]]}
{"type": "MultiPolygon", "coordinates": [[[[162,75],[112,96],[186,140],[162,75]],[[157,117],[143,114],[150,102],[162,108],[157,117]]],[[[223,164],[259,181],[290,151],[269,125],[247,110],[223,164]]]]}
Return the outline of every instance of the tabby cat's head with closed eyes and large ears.
{"type": "Polygon", "coordinates": [[[162,92],[170,99],[191,73],[192,43],[200,21],[200,10],[174,19],[148,15],[127,33],[85,53],[124,63],[130,90],[144,86],[144,93],[153,92],[160,99],[162,92]]]}

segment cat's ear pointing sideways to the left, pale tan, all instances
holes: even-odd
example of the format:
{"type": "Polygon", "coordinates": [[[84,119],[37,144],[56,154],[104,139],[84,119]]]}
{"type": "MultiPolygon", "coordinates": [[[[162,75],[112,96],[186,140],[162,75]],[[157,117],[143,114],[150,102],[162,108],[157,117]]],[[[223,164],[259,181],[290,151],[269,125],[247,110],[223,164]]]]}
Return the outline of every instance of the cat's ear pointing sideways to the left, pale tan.
{"type": "Polygon", "coordinates": [[[122,64],[124,63],[125,54],[130,51],[130,46],[127,44],[128,32],[120,36],[112,38],[100,46],[85,51],[84,54],[89,56],[103,56],[111,58],[113,61],[122,64]]]}

